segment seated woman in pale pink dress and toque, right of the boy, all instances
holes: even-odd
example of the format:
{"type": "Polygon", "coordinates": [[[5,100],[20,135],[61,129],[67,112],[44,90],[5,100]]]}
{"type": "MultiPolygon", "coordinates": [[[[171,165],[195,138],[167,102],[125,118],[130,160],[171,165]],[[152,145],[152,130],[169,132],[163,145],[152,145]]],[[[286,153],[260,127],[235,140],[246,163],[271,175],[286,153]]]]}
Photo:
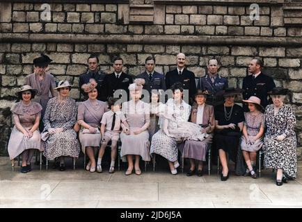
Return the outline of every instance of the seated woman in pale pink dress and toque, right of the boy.
{"type": "Polygon", "coordinates": [[[150,105],[141,101],[143,84],[145,80],[136,78],[134,83],[129,85],[131,100],[122,103],[122,112],[127,118],[129,131],[120,134],[122,142],[121,155],[127,155],[128,169],[126,176],[132,174],[135,169],[136,175],[141,175],[139,167],[140,156],[144,161],[150,161],[150,142],[148,127],[150,125],[150,105]],[[135,163],[133,164],[133,155],[135,163]]]}

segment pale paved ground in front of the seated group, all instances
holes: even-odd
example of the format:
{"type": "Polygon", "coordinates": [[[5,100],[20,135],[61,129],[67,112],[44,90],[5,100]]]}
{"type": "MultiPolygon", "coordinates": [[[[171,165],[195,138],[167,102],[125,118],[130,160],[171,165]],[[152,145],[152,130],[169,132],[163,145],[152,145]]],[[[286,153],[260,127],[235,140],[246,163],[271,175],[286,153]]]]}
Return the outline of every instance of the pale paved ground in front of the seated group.
{"type": "Polygon", "coordinates": [[[216,168],[211,176],[173,176],[166,163],[141,176],[125,176],[121,171],[109,174],[89,173],[83,160],[67,162],[67,170],[12,171],[8,157],[0,157],[0,207],[302,207],[302,162],[296,180],[281,187],[275,185],[275,174],[262,171],[262,177],[230,175],[222,182],[216,168]]]}

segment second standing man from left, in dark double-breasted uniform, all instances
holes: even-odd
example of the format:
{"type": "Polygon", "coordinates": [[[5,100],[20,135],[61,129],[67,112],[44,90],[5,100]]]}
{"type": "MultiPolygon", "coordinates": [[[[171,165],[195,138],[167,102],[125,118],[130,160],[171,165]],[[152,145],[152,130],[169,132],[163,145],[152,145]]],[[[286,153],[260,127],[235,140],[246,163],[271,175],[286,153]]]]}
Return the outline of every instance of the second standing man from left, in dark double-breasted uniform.
{"type": "Polygon", "coordinates": [[[129,85],[133,83],[132,76],[122,72],[123,60],[120,57],[113,59],[113,73],[106,75],[103,83],[102,100],[107,101],[113,94],[122,94],[122,91],[127,92],[129,97],[129,85]]]}

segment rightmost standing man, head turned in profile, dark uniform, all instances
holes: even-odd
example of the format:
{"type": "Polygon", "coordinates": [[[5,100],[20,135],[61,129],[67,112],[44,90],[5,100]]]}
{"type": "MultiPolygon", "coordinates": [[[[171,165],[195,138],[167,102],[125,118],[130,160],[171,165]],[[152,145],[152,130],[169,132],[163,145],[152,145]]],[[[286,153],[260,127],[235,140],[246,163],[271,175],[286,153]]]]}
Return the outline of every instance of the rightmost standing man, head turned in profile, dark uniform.
{"type": "MultiPolygon", "coordinates": [[[[248,99],[250,96],[257,96],[261,99],[261,105],[265,108],[269,101],[267,99],[268,92],[271,92],[273,87],[273,78],[264,75],[261,72],[263,62],[260,58],[254,58],[248,65],[248,71],[252,74],[244,77],[242,89],[244,89],[243,98],[248,99]]],[[[248,112],[248,106],[244,104],[244,112],[248,112]]]]}

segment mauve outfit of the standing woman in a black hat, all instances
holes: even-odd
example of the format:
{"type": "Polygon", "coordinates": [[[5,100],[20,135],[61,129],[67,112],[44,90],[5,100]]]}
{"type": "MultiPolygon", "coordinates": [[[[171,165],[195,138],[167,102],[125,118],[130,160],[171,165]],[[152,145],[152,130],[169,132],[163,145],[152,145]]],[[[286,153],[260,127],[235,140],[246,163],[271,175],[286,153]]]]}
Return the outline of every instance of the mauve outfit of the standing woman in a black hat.
{"type": "Polygon", "coordinates": [[[52,97],[51,90],[56,87],[54,76],[49,73],[46,73],[45,78],[42,81],[40,81],[38,79],[38,76],[35,73],[33,73],[30,74],[29,76],[26,76],[26,85],[30,85],[33,89],[38,90],[33,101],[40,103],[42,105],[42,118],[43,118],[47,107],[47,102],[52,97]]]}

